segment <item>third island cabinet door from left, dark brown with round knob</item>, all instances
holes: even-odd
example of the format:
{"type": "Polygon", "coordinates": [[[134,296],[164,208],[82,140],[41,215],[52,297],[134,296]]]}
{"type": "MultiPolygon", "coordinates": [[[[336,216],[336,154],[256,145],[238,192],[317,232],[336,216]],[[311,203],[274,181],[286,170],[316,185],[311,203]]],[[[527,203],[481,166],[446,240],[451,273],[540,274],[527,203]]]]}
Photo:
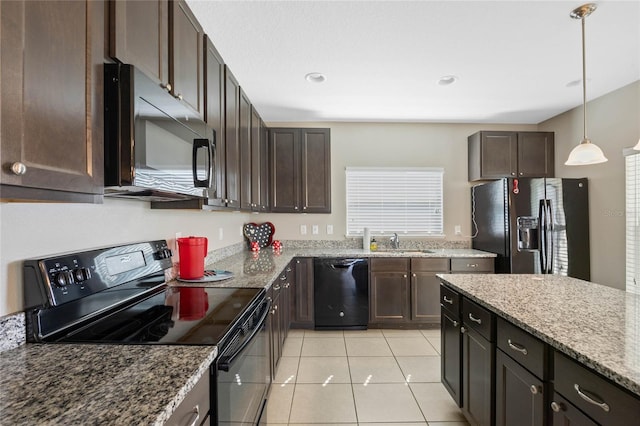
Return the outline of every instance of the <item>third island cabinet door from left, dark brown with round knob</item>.
{"type": "Polygon", "coordinates": [[[496,350],[496,425],[545,425],[544,384],[496,350]]]}

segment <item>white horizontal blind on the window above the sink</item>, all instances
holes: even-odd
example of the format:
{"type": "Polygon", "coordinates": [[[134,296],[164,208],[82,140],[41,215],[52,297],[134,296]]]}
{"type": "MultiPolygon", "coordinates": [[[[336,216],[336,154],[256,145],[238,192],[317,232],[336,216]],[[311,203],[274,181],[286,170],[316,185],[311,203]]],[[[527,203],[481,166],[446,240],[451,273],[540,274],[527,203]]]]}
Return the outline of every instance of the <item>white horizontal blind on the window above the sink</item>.
{"type": "Polygon", "coordinates": [[[348,167],[347,235],[442,236],[441,168],[348,167]]]}

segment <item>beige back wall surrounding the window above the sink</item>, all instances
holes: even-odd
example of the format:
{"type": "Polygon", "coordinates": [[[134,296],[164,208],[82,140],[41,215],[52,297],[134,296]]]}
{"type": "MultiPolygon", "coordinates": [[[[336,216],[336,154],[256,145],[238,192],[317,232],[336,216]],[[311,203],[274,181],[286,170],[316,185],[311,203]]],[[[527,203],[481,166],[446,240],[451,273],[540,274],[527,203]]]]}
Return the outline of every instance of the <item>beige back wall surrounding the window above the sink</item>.
{"type": "Polygon", "coordinates": [[[279,239],[343,239],[346,233],[345,167],[406,166],[444,168],[444,232],[446,239],[469,240],[470,201],[467,181],[467,136],[478,130],[536,130],[535,125],[434,123],[268,123],[271,127],[331,128],[331,214],[271,214],[279,239]],[[308,235],[300,235],[300,225],[308,235]],[[319,235],[311,225],[319,225],[319,235]],[[333,235],[326,234],[332,224],[333,235]],[[454,235],[461,225],[462,236],[454,235]]]}

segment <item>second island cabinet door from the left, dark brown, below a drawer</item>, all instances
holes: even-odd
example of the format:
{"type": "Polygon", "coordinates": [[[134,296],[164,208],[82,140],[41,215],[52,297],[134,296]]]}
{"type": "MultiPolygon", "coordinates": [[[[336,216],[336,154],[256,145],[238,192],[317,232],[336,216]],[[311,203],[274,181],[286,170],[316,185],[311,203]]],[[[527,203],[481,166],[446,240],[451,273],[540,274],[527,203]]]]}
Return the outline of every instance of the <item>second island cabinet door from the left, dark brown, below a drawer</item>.
{"type": "Polygon", "coordinates": [[[466,324],[461,331],[462,412],[472,425],[491,426],[494,401],[494,345],[466,324]]]}

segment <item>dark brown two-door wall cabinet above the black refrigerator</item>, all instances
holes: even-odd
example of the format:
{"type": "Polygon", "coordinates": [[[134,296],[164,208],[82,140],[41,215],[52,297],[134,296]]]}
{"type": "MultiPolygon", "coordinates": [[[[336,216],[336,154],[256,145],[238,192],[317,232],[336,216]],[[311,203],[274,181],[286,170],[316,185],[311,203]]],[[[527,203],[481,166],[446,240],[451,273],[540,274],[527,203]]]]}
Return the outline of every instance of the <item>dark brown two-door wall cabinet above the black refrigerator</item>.
{"type": "Polygon", "coordinates": [[[481,131],[468,138],[469,181],[553,177],[553,132],[481,131]]]}

